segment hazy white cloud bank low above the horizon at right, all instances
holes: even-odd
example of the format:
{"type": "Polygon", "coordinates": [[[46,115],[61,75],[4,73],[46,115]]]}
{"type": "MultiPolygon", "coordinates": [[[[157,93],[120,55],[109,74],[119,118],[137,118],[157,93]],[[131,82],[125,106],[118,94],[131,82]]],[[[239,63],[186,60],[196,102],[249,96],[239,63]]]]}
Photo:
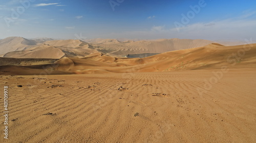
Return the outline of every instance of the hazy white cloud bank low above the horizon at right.
{"type": "Polygon", "coordinates": [[[147,30],[124,31],[121,33],[111,33],[105,37],[120,38],[139,38],[139,39],[162,39],[162,38],[180,38],[180,39],[206,39],[206,40],[228,40],[237,39],[256,40],[256,20],[244,19],[226,19],[210,22],[199,22],[188,24],[180,28],[178,32],[176,27],[167,28],[166,26],[153,26],[147,30]]]}

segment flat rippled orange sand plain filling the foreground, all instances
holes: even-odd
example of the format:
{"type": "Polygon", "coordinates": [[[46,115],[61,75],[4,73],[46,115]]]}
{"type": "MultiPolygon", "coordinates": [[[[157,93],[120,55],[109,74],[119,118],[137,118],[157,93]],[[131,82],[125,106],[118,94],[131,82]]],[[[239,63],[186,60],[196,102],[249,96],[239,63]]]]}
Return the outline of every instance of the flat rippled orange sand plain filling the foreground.
{"type": "Polygon", "coordinates": [[[2,76],[0,142],[254,142],[255,73],[232,69],[203,94],[210,70],[2,76]]]}

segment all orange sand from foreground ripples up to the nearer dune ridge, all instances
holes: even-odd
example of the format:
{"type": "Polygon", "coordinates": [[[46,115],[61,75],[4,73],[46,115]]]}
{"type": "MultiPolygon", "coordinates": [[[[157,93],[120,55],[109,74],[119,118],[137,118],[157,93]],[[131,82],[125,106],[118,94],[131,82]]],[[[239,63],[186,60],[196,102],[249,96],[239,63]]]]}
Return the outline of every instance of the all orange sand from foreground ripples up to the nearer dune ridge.
{"type": "Polygon", "coordinates": [[[146,58],[1,58],[0,142],[255,142],[255,54],[211,43],[146,58]]]}

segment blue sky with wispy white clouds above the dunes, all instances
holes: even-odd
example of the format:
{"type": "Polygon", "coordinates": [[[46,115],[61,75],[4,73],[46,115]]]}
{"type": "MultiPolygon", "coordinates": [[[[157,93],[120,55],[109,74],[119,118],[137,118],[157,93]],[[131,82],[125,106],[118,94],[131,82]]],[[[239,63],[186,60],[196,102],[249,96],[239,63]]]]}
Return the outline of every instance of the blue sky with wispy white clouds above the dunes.
{"type": "Polygon", "coordinates": [[[255,1],[2,0],[0,38],[256,39],[255,1]]]}

